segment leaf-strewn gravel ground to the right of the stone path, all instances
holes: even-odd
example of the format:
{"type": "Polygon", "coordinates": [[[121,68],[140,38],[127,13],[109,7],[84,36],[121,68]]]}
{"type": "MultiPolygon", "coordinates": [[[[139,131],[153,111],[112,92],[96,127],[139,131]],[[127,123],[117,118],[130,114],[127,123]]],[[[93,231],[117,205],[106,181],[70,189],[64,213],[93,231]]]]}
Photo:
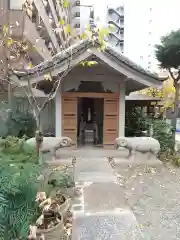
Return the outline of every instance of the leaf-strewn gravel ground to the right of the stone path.
{"type": "Polygon", "coordinates": [[[145,240],[180,239],[180,170],[173,167],[117,168],[127,205],[145,233],[145,240]]]}

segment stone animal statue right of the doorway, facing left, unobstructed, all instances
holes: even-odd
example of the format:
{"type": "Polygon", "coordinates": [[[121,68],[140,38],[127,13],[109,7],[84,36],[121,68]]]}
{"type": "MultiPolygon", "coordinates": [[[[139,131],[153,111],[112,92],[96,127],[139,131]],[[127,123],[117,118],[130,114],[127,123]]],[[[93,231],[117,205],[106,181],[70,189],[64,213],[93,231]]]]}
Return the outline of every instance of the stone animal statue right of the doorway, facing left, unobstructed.
{"type": "Polygon", "coordinates": [[[152,153],[157,156],[160,151],[159,141],[151,137],[119,137],[114,142],[114,147],[123,147],[129,150],[129,156],[134,152],[152,153]]]}

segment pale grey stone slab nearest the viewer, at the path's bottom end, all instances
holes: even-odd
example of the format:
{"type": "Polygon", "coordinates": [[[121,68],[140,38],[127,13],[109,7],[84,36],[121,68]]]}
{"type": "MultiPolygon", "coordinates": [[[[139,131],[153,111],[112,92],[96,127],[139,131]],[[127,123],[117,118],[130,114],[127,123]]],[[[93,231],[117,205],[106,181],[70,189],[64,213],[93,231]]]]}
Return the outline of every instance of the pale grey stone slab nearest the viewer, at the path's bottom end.
{"type": "Polygon", "coordinates": [[[144,240],[141,229],[129,210],[75,213],[72,240],[144,240]]]}

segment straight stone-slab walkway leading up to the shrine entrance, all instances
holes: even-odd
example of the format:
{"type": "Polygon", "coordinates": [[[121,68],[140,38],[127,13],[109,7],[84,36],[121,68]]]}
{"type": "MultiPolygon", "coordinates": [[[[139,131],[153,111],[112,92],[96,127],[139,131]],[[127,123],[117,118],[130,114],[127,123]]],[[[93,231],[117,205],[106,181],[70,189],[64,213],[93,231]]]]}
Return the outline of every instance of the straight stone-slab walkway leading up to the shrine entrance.
{"type": "Polygon", "coordinates": [[[78,157],[75,181],[82,194],[73,206],[73,240],[144,239],[107,158],[78,157]]]}

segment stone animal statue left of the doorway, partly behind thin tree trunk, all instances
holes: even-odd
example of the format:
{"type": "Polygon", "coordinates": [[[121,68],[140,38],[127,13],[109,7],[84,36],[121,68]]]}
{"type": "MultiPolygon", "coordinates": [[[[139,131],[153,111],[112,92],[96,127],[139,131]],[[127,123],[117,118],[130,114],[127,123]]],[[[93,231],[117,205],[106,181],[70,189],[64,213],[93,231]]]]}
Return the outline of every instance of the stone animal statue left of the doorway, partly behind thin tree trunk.
{"type": "MultiPolygon", "coordinates": [[[[36,139],[30,138],[26,143],[32,147],[36,147],[36,139]]],[[[72,140],[68,137],[43,137],[41,152],[51,152],[56,157],[56,151],[63,147],[70,147],[72,140]]]]}

